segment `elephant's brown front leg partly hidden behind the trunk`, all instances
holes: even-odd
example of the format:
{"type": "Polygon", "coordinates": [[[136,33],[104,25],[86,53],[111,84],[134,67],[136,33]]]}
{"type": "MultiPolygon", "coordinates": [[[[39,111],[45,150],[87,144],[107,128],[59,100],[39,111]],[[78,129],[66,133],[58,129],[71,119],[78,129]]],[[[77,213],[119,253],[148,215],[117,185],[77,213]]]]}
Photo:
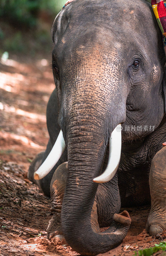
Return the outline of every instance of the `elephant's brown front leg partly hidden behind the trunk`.
{"type": "MultiPolygon", "coordinates": [[[[64,190],[66,187],[67,179],[67,162],[58,166],[51,180],[50,193],[51,193],[51,212],[53,216],[49,220],[47,228],[47,238],[54,244],[66,244],[61,228],[61,209],[64,197],[64,190]]],[[[91,212],[91,224],[94,232],[100,232],[99,224],[97,221],[97,204],[96,200],[91,212]]]]}

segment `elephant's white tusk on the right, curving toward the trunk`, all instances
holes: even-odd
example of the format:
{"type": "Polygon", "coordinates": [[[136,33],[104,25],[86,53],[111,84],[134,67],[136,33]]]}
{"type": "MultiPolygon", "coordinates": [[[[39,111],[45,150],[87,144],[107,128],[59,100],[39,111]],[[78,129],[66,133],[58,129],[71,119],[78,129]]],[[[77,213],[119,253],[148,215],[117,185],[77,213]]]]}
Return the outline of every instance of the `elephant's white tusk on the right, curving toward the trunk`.
{"type": "Polygon", "coordinates": [[[109,139],[109,159],[108,159],[107,168],[100,176],[93,179],[94,182],[104,183],[104,182],[110,181],[114,177],[120,162],[121,147],[122,147],[121,124],[118,124],[117,127],[111,133],[111,137],[109,139]]]}

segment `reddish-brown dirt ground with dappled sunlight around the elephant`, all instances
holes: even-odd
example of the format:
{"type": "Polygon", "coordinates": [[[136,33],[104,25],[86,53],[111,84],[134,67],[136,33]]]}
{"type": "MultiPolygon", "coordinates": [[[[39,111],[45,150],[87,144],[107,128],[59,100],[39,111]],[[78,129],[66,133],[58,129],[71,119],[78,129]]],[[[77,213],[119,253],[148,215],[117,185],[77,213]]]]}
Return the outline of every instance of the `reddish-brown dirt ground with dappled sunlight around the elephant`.
{"type": "MultiPolygon", "coordinates": [[[[45,113],[54,89],[49,64],[47,59],[16,56],[0,63],[0,256],[78,255],[70,246],[55,246],[46,238],[50,200],[26,177],[49,138],[45,113]]],[[[126,210],[131,228],[123,243],[104,256],[132,256],[166,238],[165,233],[146,233],[150,206],[126,210]]]]}

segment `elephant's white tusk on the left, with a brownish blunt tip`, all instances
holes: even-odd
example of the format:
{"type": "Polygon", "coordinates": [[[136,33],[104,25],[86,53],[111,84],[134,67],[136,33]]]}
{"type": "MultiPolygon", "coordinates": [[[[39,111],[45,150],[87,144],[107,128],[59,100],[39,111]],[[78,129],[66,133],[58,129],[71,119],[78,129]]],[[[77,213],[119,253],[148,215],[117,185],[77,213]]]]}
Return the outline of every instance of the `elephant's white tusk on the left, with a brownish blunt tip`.
{"type": "Polygon", "coordinates": [[[34,179],[41,180],[44,178],[57,164],[58,160],[62,156],[64,149],[66,147],[62,130],[60,130],[57,140],[51,149],[49,155],[47,156],[46,160],[41,164],[39,169],[34,172],[34,179]]]}

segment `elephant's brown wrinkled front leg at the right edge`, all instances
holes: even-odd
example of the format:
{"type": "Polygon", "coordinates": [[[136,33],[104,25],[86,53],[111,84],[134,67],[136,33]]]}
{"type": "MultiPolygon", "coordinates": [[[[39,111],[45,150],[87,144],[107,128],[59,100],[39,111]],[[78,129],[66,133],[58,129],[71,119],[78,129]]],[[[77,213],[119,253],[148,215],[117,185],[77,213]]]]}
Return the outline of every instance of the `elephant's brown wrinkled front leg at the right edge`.
{"type": "Polygon", "coordinates": [[[151,210],[146,230],[150,235],[166,229],[166,147],[154,156],[149,174],[151,210]]]}

